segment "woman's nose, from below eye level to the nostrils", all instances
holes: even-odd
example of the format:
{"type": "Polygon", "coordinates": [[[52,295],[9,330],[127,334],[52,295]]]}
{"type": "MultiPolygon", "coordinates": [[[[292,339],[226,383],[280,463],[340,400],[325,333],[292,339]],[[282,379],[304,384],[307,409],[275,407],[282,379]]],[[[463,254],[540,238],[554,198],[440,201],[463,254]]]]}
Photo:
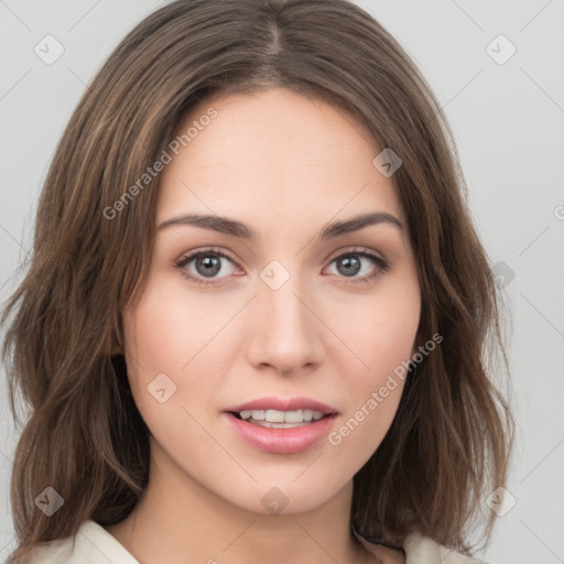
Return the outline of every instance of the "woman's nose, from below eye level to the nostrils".
{"type": "Polygon", "coordinates": [[[278,290],[259,284],[248,317],[251,336],[247,352],[257,369],[288,376],[311,371],[322,362],[325,327],[296,279],[291,276],[278,290]]]}

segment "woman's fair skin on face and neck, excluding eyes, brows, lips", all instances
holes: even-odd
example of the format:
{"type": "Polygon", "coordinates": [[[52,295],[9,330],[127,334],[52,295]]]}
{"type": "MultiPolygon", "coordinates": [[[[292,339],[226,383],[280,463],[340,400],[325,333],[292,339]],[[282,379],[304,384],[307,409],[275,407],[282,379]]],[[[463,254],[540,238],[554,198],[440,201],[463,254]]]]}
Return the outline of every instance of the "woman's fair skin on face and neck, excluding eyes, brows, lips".
{"type": "MultiPolygon", "coordinates": [[[[265,395],[305,395],[338,410],[338,430],[416,351],[416,265],[392,178],[372,164],[381,149],[343,110],[279,88],[204,100],[178,131],[209,107],[217,117],[161,174],[156,225],[214,214],[259,237],[158,231],[147,285],[123,312],[129,381],[152,433],[150,481],[107,530],[144,563],[403,562],[380,546],[369,555],[349,529],[352,476],[388,431],[401,381],[340,444],[297,454],[243,443],[223,414],[265,395]],[[391,214],[403,229],[316,238],[327,223],[367,212],[391,214]],[[237,263],[219,259],[219,283],[205,288],[174,263],[208,247],[237,263]],[[354,249],[390,269],[355,282],[380,267],[364,258],[347,276],[335,259],[354,249]],[[290,274],[278,290],[260,278],[272,260],[290,274]],[[160,373],[176,386],[164,403],[148,392],[160,373]],[[288,499],[278,514],[261,503],[272,487],[288,499]]],[[[184,271],[206,280],[196,261],[184,271]]]]}

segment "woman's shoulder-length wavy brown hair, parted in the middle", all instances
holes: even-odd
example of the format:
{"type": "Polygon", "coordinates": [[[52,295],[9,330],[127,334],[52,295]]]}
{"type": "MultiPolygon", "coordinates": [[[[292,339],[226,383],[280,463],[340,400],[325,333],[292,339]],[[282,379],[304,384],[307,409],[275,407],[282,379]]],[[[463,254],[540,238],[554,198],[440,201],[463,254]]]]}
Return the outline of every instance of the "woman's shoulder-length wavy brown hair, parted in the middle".
{"type": "MultiPolygon", "coordinates": [[[[501,352],[507,368],[499,294],[424,78],[346,0],[175,1],[127,35],[78,104],[45,180],[26,275],[2,314],[18,425],[17,390],[30,410],[11,477],[10,564],[87,519],[123,520],[148,482],[149,430],[111,350],[148,272],[158,176],[111,219],[104,210],[196,102],[269,87],[339,105],[400,155],[392,180],[420,276],[417,339],[444,339],[410,372],[389,433],[354,478],[352,524],[369,539],[399,544],[416,529],[467,551],[482,496],[505,484],[512,420],[487,355],[501,352]],[[34,503],[46,487],[64,499],[52,517],[34,503]]],[[[489,538],[495,516],[482,517],[489,538]]]]}

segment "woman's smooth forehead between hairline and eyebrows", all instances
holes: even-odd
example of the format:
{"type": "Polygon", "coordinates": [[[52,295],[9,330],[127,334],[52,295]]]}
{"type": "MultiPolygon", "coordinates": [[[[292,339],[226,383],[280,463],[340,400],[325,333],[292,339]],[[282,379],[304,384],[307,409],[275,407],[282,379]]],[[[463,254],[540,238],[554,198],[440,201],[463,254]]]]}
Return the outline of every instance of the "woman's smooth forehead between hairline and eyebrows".
{"type": "Polygon", "coordinates": [[[403,220],[392,180],[372,164],[380,148],[321,98],[279,88],[215,97],[195,106],[176,134],[184,143],[161,175],[158,223],[183,210],[263,225],[297,212],[318,223],[367,208],[403,220]]]}

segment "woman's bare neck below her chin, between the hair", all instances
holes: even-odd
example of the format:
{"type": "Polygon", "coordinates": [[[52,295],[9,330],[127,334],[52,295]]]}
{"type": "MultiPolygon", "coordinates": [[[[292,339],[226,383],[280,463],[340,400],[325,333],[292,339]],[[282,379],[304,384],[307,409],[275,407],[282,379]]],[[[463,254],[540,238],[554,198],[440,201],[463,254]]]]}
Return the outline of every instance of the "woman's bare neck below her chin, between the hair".
{"type": "MultiPolygon", "coordinates": [[[[360,563],[350,530],[352,480],[321,507],[259,513],[231,503],[151,445],[149,485],[131,514],[107,527],[140,562],[167,564],[360,563]]],[[[229,477],[226,476],[226,480],[229,477]]]]}

